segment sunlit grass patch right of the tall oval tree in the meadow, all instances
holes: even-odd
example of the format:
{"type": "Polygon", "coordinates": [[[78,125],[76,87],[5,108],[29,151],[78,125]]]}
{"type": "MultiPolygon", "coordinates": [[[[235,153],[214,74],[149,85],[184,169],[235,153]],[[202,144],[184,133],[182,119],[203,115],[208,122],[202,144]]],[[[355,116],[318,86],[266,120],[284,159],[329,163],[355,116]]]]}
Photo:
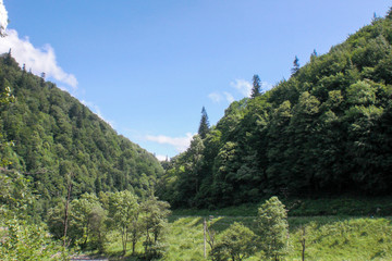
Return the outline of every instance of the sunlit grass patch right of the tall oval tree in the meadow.
{"type": "Polygon", "coordinates": [[[305,260],[390,260],[391,233],[391,221],[385,219],[308,221],[292,231],[289,259],[302,256],[305,238],[305,260]]]}

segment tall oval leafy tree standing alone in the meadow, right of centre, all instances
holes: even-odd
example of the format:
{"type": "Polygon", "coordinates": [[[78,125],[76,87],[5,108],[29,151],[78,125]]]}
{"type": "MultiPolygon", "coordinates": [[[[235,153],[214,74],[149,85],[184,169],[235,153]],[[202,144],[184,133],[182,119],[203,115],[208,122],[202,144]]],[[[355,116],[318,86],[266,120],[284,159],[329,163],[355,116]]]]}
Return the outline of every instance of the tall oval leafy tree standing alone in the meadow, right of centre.
{"type": "Polygon", "coordinates": [[[268,259],[279,260],[287,251],[287,211],[278,197],[271,197],[258,209],[257,234],[268,259]]]}

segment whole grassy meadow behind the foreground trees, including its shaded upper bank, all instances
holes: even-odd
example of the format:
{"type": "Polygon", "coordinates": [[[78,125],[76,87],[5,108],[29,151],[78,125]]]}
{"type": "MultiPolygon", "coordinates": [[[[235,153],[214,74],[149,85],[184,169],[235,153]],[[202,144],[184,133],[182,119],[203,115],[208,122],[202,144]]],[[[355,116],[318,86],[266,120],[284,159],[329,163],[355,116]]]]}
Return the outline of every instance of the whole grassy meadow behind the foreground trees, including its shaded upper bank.
{"type": "MultiPolygon", "coordinates": [[[[302,260],[303,228],[306,231],[305,260],[392,260],[392,198],[382,199],[291,199],[282,200],[289,211],[289,253],[285,260],[302,260]]],[[[174,210],[169,217],[163,260],[209,260],[204,258],[204,219],[220,234],[234,222],[255,229],[259,204],[219,210],[174,210]]],[[[120,260],[120,237],[112,233],[107,246],[110,260],[120,260]]],[[[131,245],[128,246],[131,249],[131,245]]],[[[139,243],[137,252],[143,252],[139,243]]],[[[131,251],[121,260],[138,260],[131,251]]],[[[258,252],[247,260],[264,260],[258,252]]]]}

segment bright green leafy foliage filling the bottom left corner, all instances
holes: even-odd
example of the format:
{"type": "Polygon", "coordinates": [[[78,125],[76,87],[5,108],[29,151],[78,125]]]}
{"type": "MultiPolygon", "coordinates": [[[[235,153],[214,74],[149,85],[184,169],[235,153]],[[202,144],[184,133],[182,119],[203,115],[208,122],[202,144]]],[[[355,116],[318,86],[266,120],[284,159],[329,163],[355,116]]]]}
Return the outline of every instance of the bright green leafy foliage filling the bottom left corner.
{"type": "Polygon", "coordinates": [[[53,240],[35,214],[37,196],[30,181],[17,172],[0,172],[1,260],[68,260],[68,251],[53,240]]]}

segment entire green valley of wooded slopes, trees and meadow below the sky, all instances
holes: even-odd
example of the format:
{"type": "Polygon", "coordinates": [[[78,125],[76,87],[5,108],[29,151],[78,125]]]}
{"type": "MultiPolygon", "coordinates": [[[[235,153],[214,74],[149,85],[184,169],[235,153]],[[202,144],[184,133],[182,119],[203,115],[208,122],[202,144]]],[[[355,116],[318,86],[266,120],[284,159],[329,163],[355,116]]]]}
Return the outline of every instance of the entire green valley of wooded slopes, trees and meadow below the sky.
{"type": "Polygon", "coordinates": [[[203,108],[170,161],[12,50],[0,95],[2,260],[392,258],[381,217],[392,214],[392,9],[305,65],[295,58],[271,90],[254,75],[252,96],[216,125],[203,108]]]}

